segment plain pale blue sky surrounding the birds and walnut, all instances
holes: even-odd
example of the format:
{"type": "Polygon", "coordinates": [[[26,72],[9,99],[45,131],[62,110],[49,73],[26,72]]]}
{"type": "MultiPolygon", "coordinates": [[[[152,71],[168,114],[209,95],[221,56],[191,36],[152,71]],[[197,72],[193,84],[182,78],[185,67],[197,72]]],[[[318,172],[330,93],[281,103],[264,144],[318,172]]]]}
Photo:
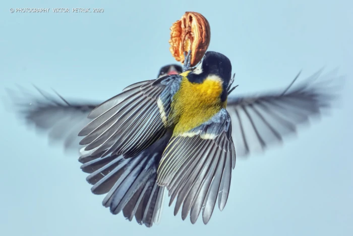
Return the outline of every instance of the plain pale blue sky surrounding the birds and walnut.
{"type": "MultiPolygon", "coordinates": [[[[341,104],[297,138],[238,159],[225,209],[195,225],[165,208],[159,225],[140,226],[102,207],[75,155],[49,146],[0,106],[1,235],[352,235],[353,3],[335,1],[3,1],[0,91],[55,88],[65,98],[109,99],[174,63],[169,27],[186,11],[211,27],[209,50],[237,73],[234,93],[284,88],[322,66],[346,76],[341,104]],[[75,3],[74,3],[75,2],[75,3]],[[109,3],[111,2],[111,3],[109,3]],[[10,8],[50,8],[10,13],[10,8]],[[52,8],[103,8],[53,13],[52,8]]],[[[34,90],[33,90],[34,91],[34,90]]],[[[4,95],[4,96],[3,96],[4,95]]],[[[3,105],[3,104],[2,104],[3,105]]]]}

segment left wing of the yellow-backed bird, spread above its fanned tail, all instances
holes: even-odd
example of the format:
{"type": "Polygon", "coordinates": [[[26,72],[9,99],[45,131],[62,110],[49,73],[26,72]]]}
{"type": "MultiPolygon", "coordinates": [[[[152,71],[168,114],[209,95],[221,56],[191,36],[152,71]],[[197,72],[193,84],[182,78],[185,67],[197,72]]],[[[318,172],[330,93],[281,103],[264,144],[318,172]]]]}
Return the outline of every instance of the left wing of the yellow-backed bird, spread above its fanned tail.
{"type": "Polygon", "coordinates": [[[163,119],[181,78],[170,75],[140,82],[102,103],[88,115],[93,120],[79,133],[85,136],[80,144],[93,156],[138,154],[165,133],[163,119]]]}

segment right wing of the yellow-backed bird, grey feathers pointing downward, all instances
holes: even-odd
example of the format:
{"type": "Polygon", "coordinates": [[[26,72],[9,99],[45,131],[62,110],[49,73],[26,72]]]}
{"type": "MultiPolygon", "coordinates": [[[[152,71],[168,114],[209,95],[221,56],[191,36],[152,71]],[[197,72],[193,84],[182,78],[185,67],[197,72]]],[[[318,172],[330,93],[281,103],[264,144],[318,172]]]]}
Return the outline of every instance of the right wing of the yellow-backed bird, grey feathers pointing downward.
{"type": "Polygon", "coordinates": [[[158,167],[157,183],[167,187],[169,206],[177,197],[174,215],[183,205],[183,220],[190,212],[195,223],[203,209],[207,224],[217,197],[220,210],[226,204],[235,164],[231,121],[222,109],[208,122],[170,139],[158,167]]]}

